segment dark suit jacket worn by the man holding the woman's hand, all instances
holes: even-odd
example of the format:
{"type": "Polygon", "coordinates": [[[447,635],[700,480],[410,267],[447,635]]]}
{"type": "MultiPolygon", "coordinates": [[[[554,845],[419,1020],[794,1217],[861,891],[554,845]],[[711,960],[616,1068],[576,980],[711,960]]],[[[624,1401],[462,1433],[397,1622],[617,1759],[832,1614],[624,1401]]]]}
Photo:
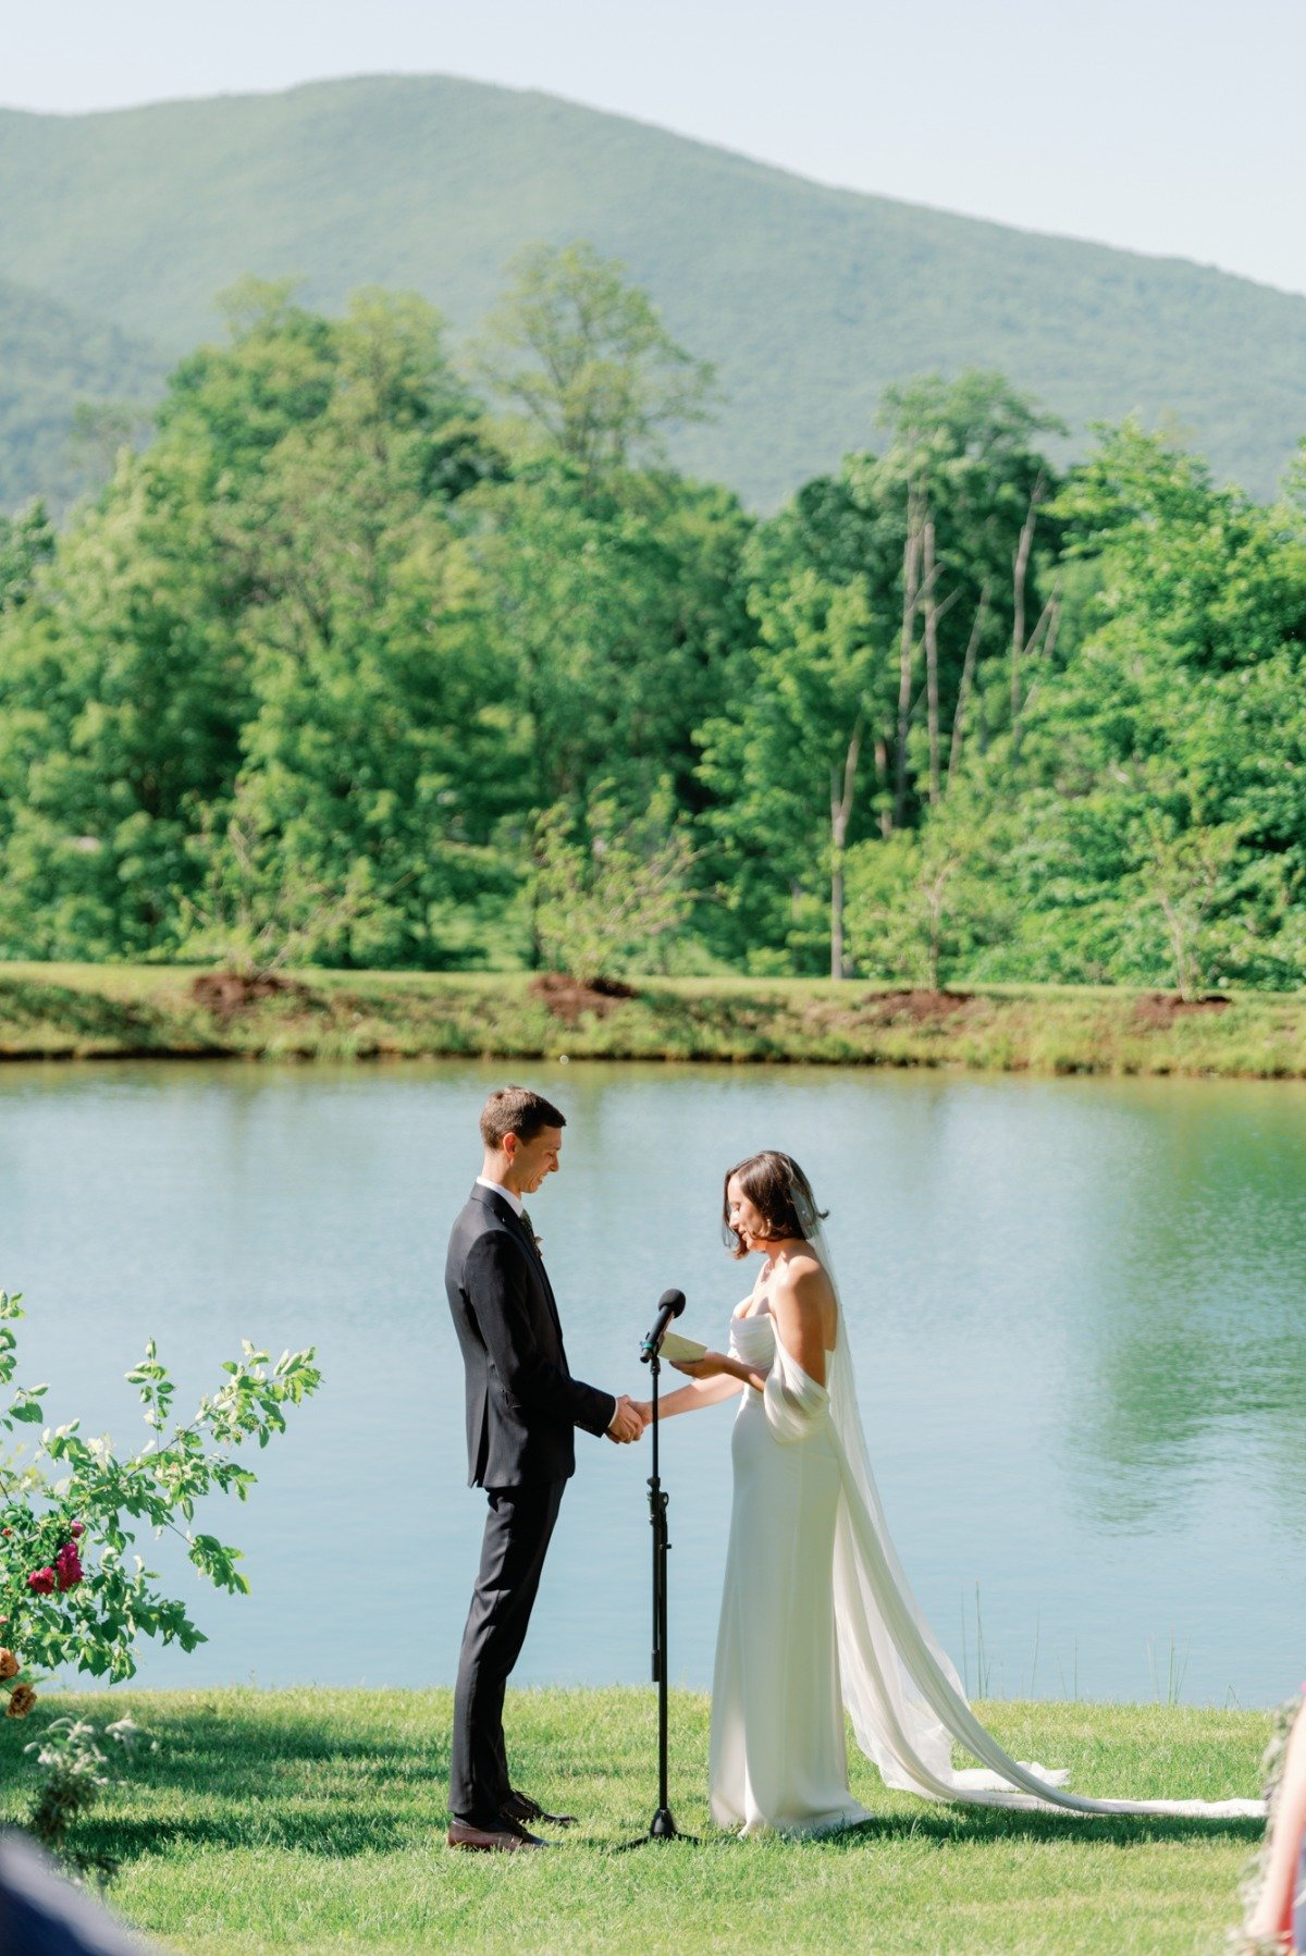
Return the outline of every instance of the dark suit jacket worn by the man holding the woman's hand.
{"type": "Polygon", "coordinates": [[[604,1434],[612,1393],[567,1369],[553,1285],[512,1203],[477,1183],[444,1266],[467,1375],[467,1483],[520,1487],[577,1471],[575,1428],[604,1434]]]}

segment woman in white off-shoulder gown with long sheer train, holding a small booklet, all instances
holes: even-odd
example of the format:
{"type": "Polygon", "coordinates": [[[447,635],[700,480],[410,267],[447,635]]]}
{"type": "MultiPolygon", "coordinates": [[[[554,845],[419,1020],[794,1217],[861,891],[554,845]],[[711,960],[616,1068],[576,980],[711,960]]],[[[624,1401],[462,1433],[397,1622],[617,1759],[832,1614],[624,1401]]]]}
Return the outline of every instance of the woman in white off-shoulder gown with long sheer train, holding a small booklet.
{"type": "MultiPolygon", "coordinates": [[[[663,1418],[743,1393],[712,1684],[712,1817],[811,1835],[866,1819],[849,1792],[847,1712],[886,1786],[1073,1813],[1261,1815],[1257,1800],[1085,1800],[1011,1758],[976,1719],[890,1541],[815,1197],[764,1150],[725,1176],[721,1226],[762,1258],[729,1352],[680,1365],[663,1418]],[[956,1770],[960,1745],[983,1770],[956,1770]]],[[[649,1408],[641,1408],[647,1416],[649,1408]]]]}

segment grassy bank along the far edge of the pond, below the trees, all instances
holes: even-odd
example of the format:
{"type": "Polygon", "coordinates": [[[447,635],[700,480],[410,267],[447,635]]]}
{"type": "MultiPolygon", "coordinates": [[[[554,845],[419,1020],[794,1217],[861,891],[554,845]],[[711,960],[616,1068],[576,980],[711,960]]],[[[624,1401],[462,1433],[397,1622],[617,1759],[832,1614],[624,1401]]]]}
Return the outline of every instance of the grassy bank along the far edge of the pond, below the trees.
{"type": "Polygon", "coordinates": [[[602,1058],[1306,1078],[1306,994],[927,994],[805,978],[647,978],[555,998],[524,972],[295,972],[215,1009],[196,968],[0,964],[0,1060],[602,1058]]]}

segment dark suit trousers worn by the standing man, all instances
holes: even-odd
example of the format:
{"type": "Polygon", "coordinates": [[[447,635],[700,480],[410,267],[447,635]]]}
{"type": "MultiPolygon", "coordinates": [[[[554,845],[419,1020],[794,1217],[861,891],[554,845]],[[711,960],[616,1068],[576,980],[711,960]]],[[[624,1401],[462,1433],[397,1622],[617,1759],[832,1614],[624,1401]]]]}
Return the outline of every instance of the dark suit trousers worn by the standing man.
{"type": "Polygon", "coordinates": [[[565,1481],[487,1489],[481,1569],[457,1659],[450,1813],[493,1827],[512,1792],[502,1737],[502,1698],[540,1590],[565,1481]]]}

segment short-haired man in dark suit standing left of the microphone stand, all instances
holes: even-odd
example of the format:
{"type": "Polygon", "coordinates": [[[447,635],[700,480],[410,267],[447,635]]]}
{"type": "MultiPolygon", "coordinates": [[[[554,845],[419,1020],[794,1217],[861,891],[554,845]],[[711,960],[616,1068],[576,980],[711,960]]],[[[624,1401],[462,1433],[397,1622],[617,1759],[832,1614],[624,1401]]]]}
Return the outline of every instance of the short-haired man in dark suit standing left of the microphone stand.
{"type": "Polygon", "coordinates": [[[489,1494],[454,1692],[450,1846],[457,1848],[538,1848],[547,1843],[526,1821],[571,1823],[514,1792],[502,1700],[577,1471],[575,1428],[622,1444],[643,1432],[628,1397],[571,1377],[553,1285],[522,1201],[557,1174],[565,1125],[528,1088],[491,1093],[481,1109],[485,1164],[444,1267],[467,1375],[467,1483],[489,1494]]]}

